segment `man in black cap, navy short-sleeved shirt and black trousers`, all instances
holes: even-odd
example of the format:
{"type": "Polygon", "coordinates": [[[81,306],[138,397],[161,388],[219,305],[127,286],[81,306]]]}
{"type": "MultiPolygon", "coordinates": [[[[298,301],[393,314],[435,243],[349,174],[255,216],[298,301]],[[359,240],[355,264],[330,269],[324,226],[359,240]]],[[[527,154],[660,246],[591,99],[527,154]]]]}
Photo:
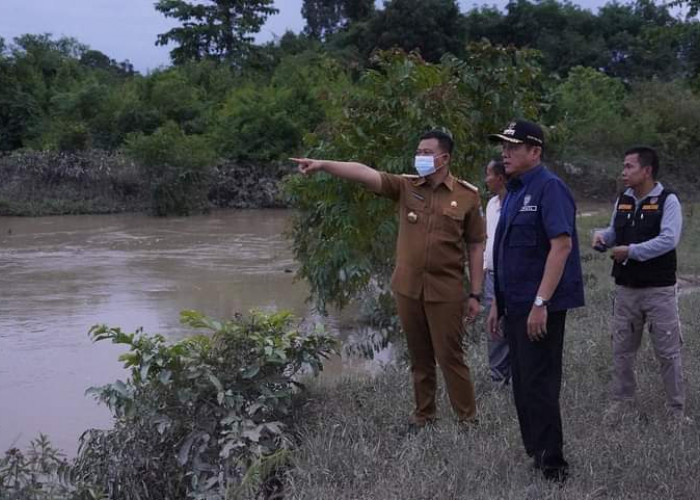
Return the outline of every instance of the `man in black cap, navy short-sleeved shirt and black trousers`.
{"type": "Polygon", "coordinates": [[[545,478],[563,481],[559,393],[566,311],[583,306],[576,205],[569,188],[544,165],[544,134],[516,120],[489,136],[500,142],[508,182],[494,241],[498,318],[511,354],[513,396],[525,451],[545,478]]]}

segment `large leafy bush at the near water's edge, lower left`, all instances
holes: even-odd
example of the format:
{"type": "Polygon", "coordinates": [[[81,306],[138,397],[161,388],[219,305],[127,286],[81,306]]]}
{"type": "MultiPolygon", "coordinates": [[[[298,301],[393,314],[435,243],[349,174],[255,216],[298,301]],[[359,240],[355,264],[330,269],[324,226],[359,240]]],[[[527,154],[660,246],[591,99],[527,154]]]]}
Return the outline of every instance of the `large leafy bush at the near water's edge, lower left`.
{"type": "Polygon", "coordinates": [[[292,396],[306,370],[335,345],[302,335],[289,313],[226,322],[195,312],[182,321],[209,336],[168,343],[160,335],[96,326],[90,335],[128,347],[130,377],[90,390],[114,429],[83,436],[76,477],[112,500],[224,499],[254,492],[285,461],[292,396]]]}

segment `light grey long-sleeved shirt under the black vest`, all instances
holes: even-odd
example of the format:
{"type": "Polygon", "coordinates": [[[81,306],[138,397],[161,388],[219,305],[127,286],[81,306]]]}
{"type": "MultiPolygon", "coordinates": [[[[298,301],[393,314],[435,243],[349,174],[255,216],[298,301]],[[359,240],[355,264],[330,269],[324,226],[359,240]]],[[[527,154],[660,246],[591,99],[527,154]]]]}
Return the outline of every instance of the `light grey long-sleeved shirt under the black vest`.
{"type": "MultiPolygon", "coordinates": [[[[650,196],[659,196],[664,190],[663,185],[657,182],[649,194],[644,197],[637,199],[634,195],[634,190],[632,188],[627,188],[624,192],[626,196],[631,196],[634,198],[636,209],[639,209],[639,205],[650,196]]],[[[619,199],[615,202],[615,207],[619,199]]],[[[603,230],[603,239],[608,247],[615,246],[615,214],[617,208],[613,210],[612,218],[610,219],[610,225],[603,230]]],[[[652,238],[643,243],[633,243],[629,245],[629,255],[628,257],[632,260],[638,260],[644,262],[645,260],[653,259],[659,257],[665,253],[670,252],[678,246],[681,240],[681,232],[683,230],[683,211],[681,209],[681,203],[678,201],[678,197],[675,194],[669,194],[666,197],[666,202],[664,203],[664,211],[661,216],[661,231],[656,238],[652,238]]]]}

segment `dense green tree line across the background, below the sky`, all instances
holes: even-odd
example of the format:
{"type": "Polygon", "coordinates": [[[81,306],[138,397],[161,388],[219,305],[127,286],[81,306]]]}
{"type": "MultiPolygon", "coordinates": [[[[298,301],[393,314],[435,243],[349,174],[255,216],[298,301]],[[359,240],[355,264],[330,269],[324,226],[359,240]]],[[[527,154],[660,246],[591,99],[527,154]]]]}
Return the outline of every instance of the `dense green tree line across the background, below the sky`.
{"type": "Polygon", "coordinates": [[[284,158],[340,113],[326,106],[338,75],[327,82],[328,65],[342,68],[352,85],[374,67],[378,48],[418,50],[433,63],[446,53],[464,58],[467,44],[483,39],[536,49],[547,82],[543,102],[577,66],[621,78],[628,95],[652,78],[700,88],[700,23],[651,0],[612,2],[597,13],[558,0],[464,13],[455,0],[391,0],[383,8],[306,0],[306,32],[263,46],[249,35],[274,13],[269,1],[163,0],[157,8],[181,22],[161,35],[175,45],[175,64],[146,76],[71,38],[0,40],[0,151],[115,150],[129,134],[173,122],[213,139],[212,153],[228,159],[284,158]]]}

